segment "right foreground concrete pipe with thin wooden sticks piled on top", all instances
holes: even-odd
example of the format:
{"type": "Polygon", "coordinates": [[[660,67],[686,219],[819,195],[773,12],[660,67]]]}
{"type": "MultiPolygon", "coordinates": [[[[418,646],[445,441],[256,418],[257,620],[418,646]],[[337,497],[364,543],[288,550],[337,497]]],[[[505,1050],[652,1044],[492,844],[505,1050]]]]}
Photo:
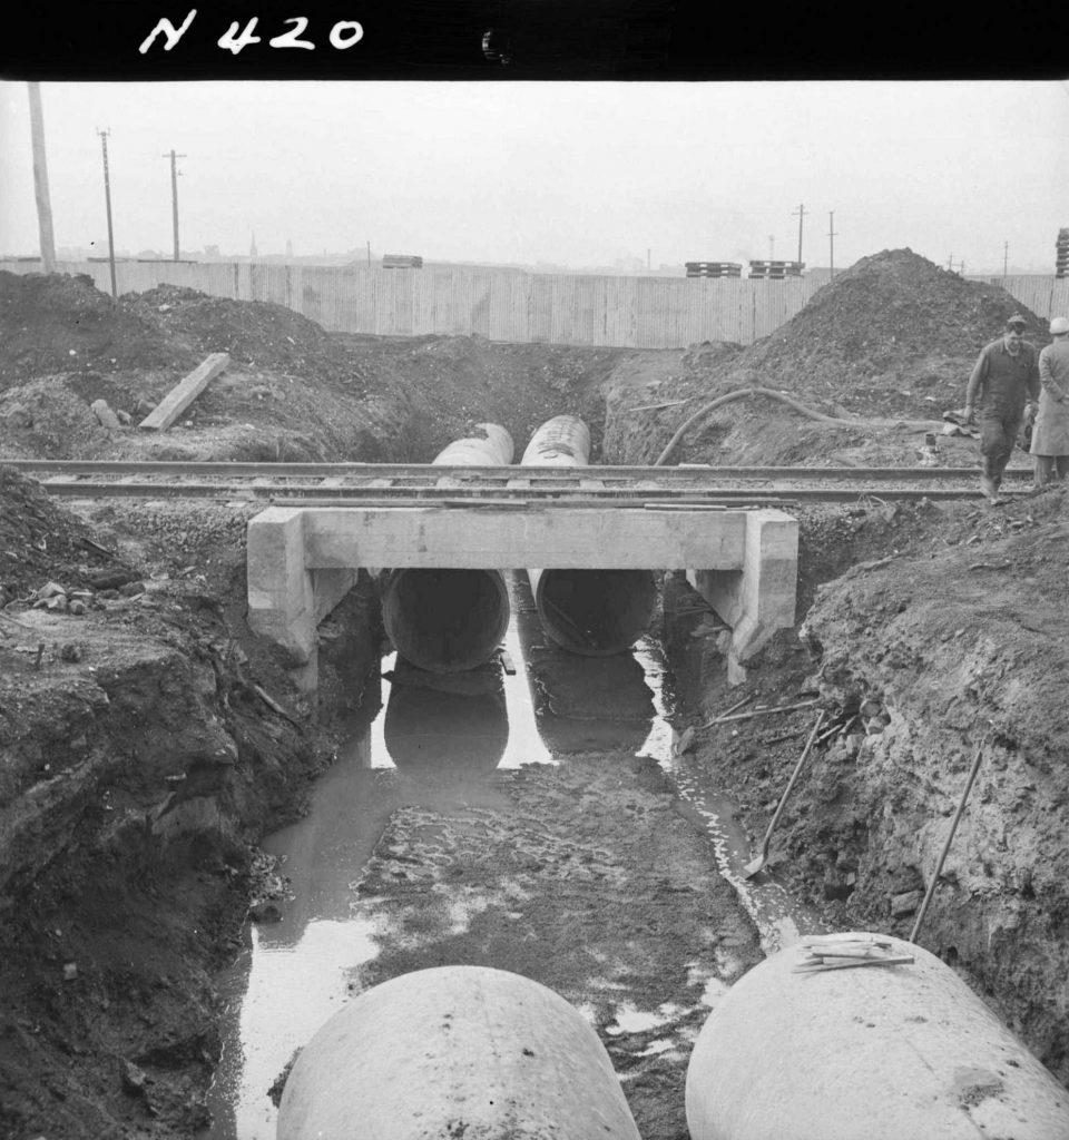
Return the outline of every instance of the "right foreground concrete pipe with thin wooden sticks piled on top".
{"type": "Polygon", "coordinates": [[[855,937],[914,961],[810,972],[792,946],[720,1000],[687,1069],[692,1140],[1069,1137],[1069,1092],[954,970],[855,937]]]}

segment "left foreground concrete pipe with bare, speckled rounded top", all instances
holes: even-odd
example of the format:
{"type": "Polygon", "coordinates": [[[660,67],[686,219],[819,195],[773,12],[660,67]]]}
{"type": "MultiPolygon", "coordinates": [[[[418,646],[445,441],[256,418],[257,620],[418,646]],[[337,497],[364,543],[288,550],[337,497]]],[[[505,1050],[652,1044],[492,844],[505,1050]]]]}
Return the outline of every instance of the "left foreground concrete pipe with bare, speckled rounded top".
{"type": "Polygon", "coordinates": [[[278,1140],[639,1140],[597,1034],[546,986],[479,966],[365,991],[301,1050],[278,1140]]]}

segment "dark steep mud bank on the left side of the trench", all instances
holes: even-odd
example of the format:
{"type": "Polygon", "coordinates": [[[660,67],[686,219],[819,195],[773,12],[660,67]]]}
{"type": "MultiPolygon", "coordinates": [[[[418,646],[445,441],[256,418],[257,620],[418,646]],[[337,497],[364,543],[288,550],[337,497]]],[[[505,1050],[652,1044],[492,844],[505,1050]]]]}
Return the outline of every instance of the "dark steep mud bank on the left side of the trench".
{"type": "MultiPolygon", "coordinates": [[[[3,489],[5,507],[72,557],[64,536],[95,534],[103,549],[125,532],[114,508],[106,531],[91,530],[18,481],[3,489]]],[[[329,739],[244,627],[242,551],[215,556],[244,521],[220,513],[214,545],[203,543],[211,508],[198,508],[197,535],[185,522],[209,575],[149,524],[127,535],[128,596],[87,588],[82,612],[0,612],[5,1140],[188,1138],[209,1123],[213,975],[263,886],[255,840],[300,812],[329,762],[329,739]],[[170,556],[134,565],[153,540],[170,556]]],[[[92,577],[84,562],[52,571],[72,597],[92,577]]],[[[357,628],[350,674],[361,646],[365,671],[377,662],[373,627],[357,628]]]]}

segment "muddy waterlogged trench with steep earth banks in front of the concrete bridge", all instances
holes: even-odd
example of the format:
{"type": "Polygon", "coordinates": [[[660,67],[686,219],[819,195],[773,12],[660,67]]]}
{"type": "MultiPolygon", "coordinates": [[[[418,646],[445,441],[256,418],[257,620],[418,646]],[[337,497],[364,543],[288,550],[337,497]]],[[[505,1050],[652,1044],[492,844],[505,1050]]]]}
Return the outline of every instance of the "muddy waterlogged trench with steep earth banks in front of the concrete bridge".
{"type": "MultiPolygon", "coordinates": [[[[1007,528],[1002,542],[1037,546],[1050,560],[1041,569],[1056,572],[1060,500],[1022,510],[1034,526],[1007,528]]],[[[156,524],[169,526],[162,513],[156,524]]],[[[32,681],[23,755],[41,814],[8,847],[6,895],[33,890],[35,905],[8,911],[0,980],[15,1012],[0,1049],[16,1098],[31,1073],[43,1080],[33,1078],[34,1104],[13,1101],[10,1134],[24,1124],[47,1134],[46,1122],[106,1134],[120,1119],[146,1137],[269,1135],[283,1054],[319,1015],[399,972],[471,961],[511,964],[582,1009],[610,1047],[642,1134],[676,1140],[697,1029],[762,953],[825,929],[908,933],[962,787],[978,693],[990,700],[993,679],[1011,669],[1033,679],[1012,638],[972,640],[958,633],[963,610],[914,612],[900,585],[881,580],[900,556],[883,552],[901,552],[909,536],[945,539],[947,524],[928,506],[803,516],[801,636],[785,630],[735,686],[723,626],[675,575],[662,581],[655,640],[606,658],[546,637],[515,577],[523,601],[505,646],[516,673],[503,674],[503,659],[496,673],[452,675],[444,692],[380,660],[376,591],[362,580],[320,628],[319,718],[349,712],[356,727],[315,787],[323,765],[308,710],[272,707],[243,673],[240,651],[220,653],[223,629],[255,649],[239,588],[220,611],[211,584],[149,583],[124,654],[114,633],[97,642],[85,627],[77,654],[50,651],[40,670],[23,658],[32,681]],[[197,616],[197,637],[146,656],[141,624],[179,611],[197,616]],[[946,694],[925,684],[927,657],[928,676],[958,685],[962,707],[939,703],[946,694]],[[383,668],[387,693],[377,687],[383,668]],[[509,685],[519,703],[503,702],[509,685]],[[703,727],[742,698],[764,715],[703,727]],[[769,710],[817,698],[843,731],[814,756],[769,872],[744,882],[811,723],[811,706],[769,710]],[[880,731],[848,730],[864,702],[880,731]],[[950,760],[931,765],[931,755],[950,760]],[[311,812],[296,830],[276,833],[305,800],[311,812]],[[250,868],[245,845],[261,836],[287,863],[250,868]],[[250,893],[258,901],[242,927],[250,893]],[[315,993],[295,992],[294,963],[315,993]],[[101,1057],[113,1074],[103,1094],[101,1057]],[[213,1115],[222,1123],[210,1124],[213,1115]]],[[[240,519],[227,526],[220,572],[239,587],[240,519]]],[[[957,544],[942,549],[950,556],[957,544]]],[[[923,572],[911,565],[909,596],[937,606],[947,567],[928,561],[923,572]]],[[[1014,604],[1034,611],[1029,584],[1019,588],[1014,604]]],[[[28,649],[55,637],[62,619],[28,611],[19,621],[28,649]]],[[[284,692],[266,662],[256,676],[259,687],[284,692]]],[[[1060,1073],[1063,741],[1041,732],[1027,705],[994,711],[999,734],[921,943],[1060,1073]]]]}

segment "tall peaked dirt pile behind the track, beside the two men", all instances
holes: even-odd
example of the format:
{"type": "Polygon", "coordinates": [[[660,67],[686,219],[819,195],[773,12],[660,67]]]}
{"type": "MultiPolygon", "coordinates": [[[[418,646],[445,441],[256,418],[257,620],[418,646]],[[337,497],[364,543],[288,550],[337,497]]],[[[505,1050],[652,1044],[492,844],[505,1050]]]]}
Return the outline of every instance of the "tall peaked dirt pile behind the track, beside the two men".
{"type": "MultiPolygon", "coordinates": [[[[844,450],[862,446],[860,433],[886,435],[896,420],[928,421],[941,426],[942,413],[960,408],[977,356],[996,340],[1006,318],[1019,312],[1028,323],[1026,339],[1048,341],[1046,321],[997,285],[969,282],[940,269],[912,250],[884,250],[863,258],[819,290],[809,303],[772,335],[741,352],[691,350],[679,356],[678,378],[646,392],[613,392],[606,425],[606,450],[614,462],[652,463],[676,429],[703,402],[748,388],[789,393],[813,412],[856,420],[843,440],[841,426],[803,421],[772,399],[732,404],[688,427],[670,463],[748,463],[752,433],[733,448],[726,437],[736,422],[752,415],[775,440],[799,424],[806,435],[802,456],[793,446],[766,448],[766,463],[848,462],[844,450]],[[638,420],[637,405],[662,401],[638,420]],[[679,401],[672,404],[672,401],[679,401]],[[753,412],[757,409],[757,412],[753,412]],[[876,426],[871,421],[882,420],[876,426]],[[716,426],[716,431],[710,429],[716,426]]],[[[699,347],[701,348],[701,347],[699,347]]],[[[800,441],[801,442],[801,441],[800,441]]],[[[916,463],[916,441],[878,439],[881,463],[916,463]],[[897,458],[895,457],[897,455],[897,458]]],[[[862,448],[864,451],[865,448],[862,448]]],[[[874,462],[864,458],[864,462],[874,462]]]]}

